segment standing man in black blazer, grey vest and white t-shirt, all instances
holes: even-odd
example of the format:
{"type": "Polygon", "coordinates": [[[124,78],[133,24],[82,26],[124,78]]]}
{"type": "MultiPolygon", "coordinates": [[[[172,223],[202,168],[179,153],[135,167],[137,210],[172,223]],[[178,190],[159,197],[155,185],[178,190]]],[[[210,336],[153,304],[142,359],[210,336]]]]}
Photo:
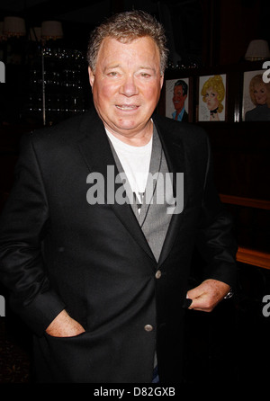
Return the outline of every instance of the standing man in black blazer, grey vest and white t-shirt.
{"type": "Polygon", "coordinates": [[[165,43],[146,13],[104,22],[88,49],[95,111],[24,138],[1,222],[1,275],[34,332],[39,382],[149,383],[157,369],[161,382],[179,381],[186,298],[210,311],[234,285],[208,140],[154,115],[165,43]],[[145,201],[168,176],[163,201],[145,201]],[[117,197],[122,184],[145,192],[140,209],[117,197]],[[208,271],[187,292],[195,245],[208,271]]]}

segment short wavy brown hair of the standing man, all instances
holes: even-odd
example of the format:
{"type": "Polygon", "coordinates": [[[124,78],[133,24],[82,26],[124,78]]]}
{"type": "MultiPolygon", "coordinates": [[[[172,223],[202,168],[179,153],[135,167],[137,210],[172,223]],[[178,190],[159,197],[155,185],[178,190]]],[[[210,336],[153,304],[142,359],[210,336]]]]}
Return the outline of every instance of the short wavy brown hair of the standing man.
{"type": "Polygon", "coordinates": [[[91,33],[87,50],[89,67],[94,71],[98,51],[103,40],[114,38],[122,43],[148,36],[157,44],[160,55],[160,70],[164,73],[167,63],[166,34],[156,18],[143,11],[117,13],[97,26],[91,33]]]}

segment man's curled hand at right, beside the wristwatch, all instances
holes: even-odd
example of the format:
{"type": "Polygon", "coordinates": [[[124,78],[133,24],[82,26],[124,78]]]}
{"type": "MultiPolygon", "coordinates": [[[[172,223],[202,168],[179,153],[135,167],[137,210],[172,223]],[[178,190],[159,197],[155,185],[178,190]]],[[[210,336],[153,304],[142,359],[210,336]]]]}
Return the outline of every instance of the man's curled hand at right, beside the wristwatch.
{"type": "Polygon", "coordinates": [[[211,312],[229,292],[229,285],[222,281],[205,280],[198,287],[189,290],[187,299],[192,299],[189,309],[211,312]]]}

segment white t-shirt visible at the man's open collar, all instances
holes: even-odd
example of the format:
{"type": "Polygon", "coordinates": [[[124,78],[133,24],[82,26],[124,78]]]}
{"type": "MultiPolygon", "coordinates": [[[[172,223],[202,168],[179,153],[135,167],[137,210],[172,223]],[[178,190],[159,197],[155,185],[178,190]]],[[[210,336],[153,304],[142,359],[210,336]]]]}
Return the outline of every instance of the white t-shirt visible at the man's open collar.
{"type": "Polygon", "coordinates": [[[119,157],[122,168],[130,183],[131,190],[136,193],[139,203],[141,203],[148,181],[153,137],[149,140],[147,145],[143,147],[133,147],[114,137],[107,129],[106,133],[119,157]]]}

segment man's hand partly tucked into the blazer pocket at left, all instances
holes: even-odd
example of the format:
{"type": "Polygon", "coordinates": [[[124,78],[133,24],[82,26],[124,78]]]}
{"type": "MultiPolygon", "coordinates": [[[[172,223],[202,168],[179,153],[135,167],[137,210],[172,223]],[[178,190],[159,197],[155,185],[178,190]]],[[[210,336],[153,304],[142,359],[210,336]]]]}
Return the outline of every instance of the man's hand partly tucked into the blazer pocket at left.
{"type": "Polygon", "coordinates": [[[84,327],[68,316],[66,310],[62,310],[46,329],[53,337],[74,337],[84,332],[84,327]]]}

